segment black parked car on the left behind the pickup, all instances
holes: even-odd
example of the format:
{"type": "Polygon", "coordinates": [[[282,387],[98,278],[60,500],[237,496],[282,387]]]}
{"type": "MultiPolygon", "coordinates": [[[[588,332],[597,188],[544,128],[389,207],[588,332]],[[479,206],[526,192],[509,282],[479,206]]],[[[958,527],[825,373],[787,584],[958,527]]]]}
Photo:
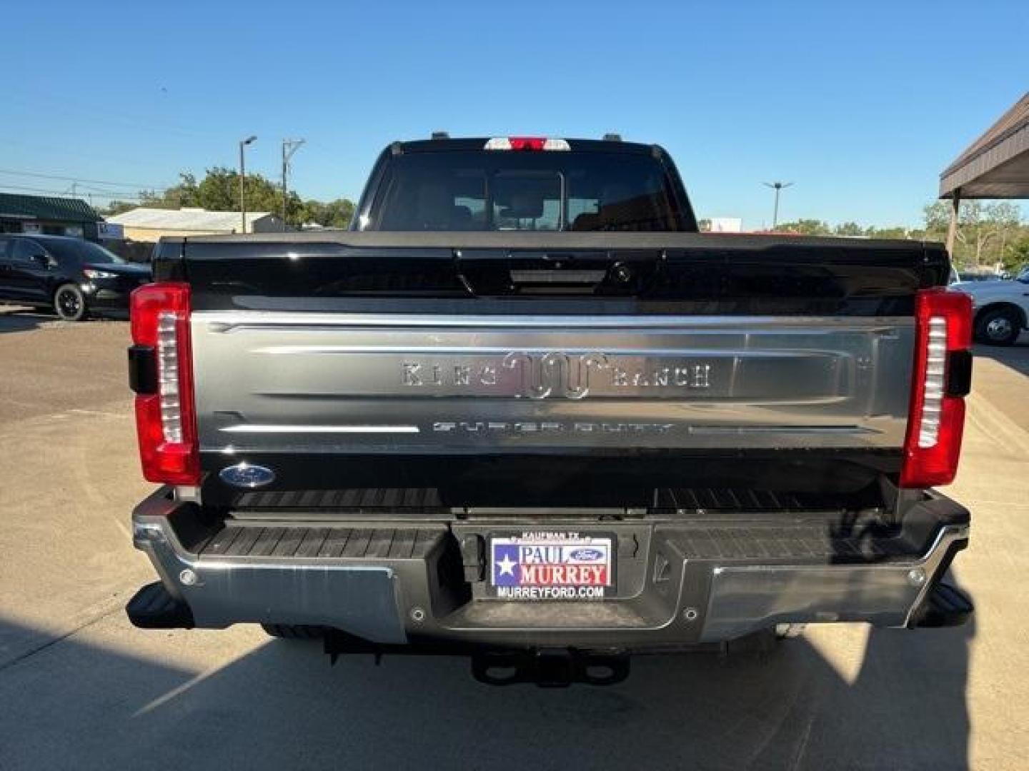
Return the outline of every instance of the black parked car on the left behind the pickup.
{"type": "Polygon", "coordinates": [[[80,321],[92,311],[128,309],[130,293],[149,281],[149,265],[81,238],[0,235],[0,301],[51,307],[80,321]]]}

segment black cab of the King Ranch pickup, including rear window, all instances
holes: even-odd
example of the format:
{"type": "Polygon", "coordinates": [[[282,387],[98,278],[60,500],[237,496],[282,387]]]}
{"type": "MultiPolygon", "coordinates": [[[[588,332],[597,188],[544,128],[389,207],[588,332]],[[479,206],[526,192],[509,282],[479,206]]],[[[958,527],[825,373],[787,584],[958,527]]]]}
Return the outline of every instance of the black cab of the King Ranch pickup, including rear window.
{"type": "Polygon", "coordinates": [[[696,232],[671,157],[612,137],[395,142],[371,172],[352,229],[696,232]]]}

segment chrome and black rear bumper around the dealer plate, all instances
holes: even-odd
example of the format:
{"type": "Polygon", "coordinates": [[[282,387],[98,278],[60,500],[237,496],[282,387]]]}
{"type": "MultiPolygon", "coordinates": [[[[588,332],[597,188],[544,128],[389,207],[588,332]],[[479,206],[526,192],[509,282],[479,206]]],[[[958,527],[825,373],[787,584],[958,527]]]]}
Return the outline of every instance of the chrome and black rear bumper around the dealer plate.
{"type": "Polygon", "coordinates": [[[133,525],[135,545],[178,603],[176,618],[189,619],[169,625],[305,624],[377,645],[629,651],[720,642],[783,623],[912,626],[968,540],[967,511],[934,492],[891,530],[781,514],[578,521],[566,526],[617,536],[616,596],[533,603],[485,596],[471,557],[477,539],[501,528],[495,522],[211,527],[198,506],[162,489],[133,525]]]}

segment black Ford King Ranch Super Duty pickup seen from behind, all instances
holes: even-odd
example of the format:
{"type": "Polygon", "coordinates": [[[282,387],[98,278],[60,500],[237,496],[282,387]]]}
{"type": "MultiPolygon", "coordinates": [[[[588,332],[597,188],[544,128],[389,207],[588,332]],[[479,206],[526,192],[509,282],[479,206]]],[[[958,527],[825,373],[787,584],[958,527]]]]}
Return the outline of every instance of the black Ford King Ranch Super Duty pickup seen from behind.
{"type": "Polygon", "coordinates": [[[697,230],[660,147],[434,138],[383,152],[349,231],[163,240],[132,621],[547,685],[961,623],[945,250],[697,230]]]}

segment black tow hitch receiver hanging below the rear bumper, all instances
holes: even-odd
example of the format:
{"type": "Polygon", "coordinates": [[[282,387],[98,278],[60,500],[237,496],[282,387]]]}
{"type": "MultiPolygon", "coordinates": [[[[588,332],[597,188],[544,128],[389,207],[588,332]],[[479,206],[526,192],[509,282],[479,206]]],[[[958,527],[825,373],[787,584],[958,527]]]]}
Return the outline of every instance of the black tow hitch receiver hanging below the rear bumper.
{"type": "Polygon", "coordinates": [[[540,688],[567,688],[573,683],[613,686],[629,676],[624,652],[541,648],[534,651],[484,651],[471,657],[471,673],[488,686],[535,683],[540,688]]]}

